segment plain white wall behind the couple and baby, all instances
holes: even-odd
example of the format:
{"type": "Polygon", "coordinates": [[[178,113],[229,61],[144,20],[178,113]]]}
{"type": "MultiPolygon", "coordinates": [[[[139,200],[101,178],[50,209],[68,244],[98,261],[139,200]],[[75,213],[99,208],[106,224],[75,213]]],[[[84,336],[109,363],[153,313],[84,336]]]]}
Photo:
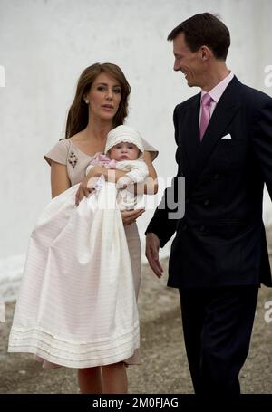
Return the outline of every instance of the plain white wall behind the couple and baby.
{"type": "MultiPolygon", "coordinates": [[[[75,83],[93,62],[121,66],[132,88],[128,122],[160,149],[159,175],[175,174],[172,111],[198,90],[172,71],[166,37],[204,11],[219,13],[230,29],[228,67],[271,94],[264,83],[272,64],[270,0],[207,0],[205,6],[197,0],[0,0],[2,260],[25,253],[50,199],[43,154],[63,137],[75,83]]],[[[139,219],[141,234],[151,215],[139,219]]]]}

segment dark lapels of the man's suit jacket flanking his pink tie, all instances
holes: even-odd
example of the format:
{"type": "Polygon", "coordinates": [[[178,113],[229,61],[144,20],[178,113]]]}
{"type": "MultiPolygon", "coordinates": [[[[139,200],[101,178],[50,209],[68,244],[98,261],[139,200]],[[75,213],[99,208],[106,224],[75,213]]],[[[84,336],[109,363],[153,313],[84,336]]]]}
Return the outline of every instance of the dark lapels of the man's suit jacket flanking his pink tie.
{"type": "MultiPolygon", "coordinates": [[[[218,140],[223,136],[224,130],[228,127],[228,124],[233,119],[237,113],[240,102],[238,99],[238,91],[240,91],[241,83],[237,80],[236,77],[228,84],[228,87],[222,94],[219,103],[217,104],[210,120],[209,126],[203,136],[201,143],[199,144],[199,149],[192,154],[192,144],[188,146],[188,154],[191,161],[191,168],[189,173],[189,181],[187,182],[191,187],[194,181],[199,177],[201,169],[205,166],[208,161],[211,151],[214,149],[214,146],[218,140]]],[[[198,118],[196,119],[196,113],[192,113],[194,118],[194,132],[192,139],[195,139],[196,129],[198,130],[198,139],[199,139],[199,113],[198,118]],[[197,121],[196,121],[197,120],[197,121]]],[[[190,117],[191,119],[191,117],[190,117]]],[[[190,135],[191,137],[191,135],[190,135]]]]}

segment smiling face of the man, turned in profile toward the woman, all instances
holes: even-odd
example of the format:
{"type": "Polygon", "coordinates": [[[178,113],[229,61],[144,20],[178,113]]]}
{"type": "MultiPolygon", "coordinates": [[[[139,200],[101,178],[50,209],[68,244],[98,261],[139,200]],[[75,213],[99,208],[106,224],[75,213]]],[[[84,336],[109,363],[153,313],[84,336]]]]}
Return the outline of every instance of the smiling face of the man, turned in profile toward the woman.
{"type": "Polygon", "coordinates": [[[180,33],[173,40],[173,53],[175,56],[174,70],[184,73],[190,87],[202,87],[203,61],[201,49],[197,52],[191,52],[185,43],[184,33],[180,33]]]}

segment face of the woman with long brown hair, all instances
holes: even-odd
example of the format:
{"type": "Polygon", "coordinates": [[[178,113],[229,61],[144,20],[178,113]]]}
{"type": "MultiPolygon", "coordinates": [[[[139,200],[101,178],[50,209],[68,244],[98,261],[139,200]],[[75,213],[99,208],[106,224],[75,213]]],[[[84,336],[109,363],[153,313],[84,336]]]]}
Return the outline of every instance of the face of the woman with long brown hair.
{"type": "Polygon", "coordinates": [[[119,81],[106,73],[100,73],[93,81],[90,91],[84,96],[88,99],[92,119],[112,120],[121,101],[119,81]]]}

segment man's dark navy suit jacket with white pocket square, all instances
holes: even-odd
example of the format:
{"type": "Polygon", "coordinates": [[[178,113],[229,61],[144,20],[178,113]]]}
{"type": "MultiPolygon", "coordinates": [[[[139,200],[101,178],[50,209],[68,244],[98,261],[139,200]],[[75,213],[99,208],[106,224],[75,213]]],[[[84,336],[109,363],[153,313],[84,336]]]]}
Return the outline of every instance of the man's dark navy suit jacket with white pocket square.
{"type": "Polygon", "coordinates": [[[234,77],[201,143],[199,104],[200,93],[174,110],[179,168],[164,196],[185,177],[185,215],[170,220],[157,208],[146,233],[163,247],[177,231],[169,286],[272,286],[262,221],[264,183],[272,198],[272,99],[234,77]]]}

